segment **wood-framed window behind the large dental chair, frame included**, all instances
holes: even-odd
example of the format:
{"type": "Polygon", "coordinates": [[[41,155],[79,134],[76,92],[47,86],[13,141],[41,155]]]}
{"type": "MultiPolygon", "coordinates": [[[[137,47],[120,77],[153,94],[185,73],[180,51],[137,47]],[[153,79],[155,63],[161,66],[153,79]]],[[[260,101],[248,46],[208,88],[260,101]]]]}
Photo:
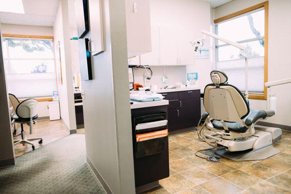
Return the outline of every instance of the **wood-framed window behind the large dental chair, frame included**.
{"type": "MultiPolygon", "coordinates": [[[[214,20],[215,33],[246,46],[250,98],[266,98],[268,54],[268,2],[214,20]]],[[[216,40],[216,68],[226,72],[228,83],[245,90],[245,62],[239,49],[216,40]]]]}

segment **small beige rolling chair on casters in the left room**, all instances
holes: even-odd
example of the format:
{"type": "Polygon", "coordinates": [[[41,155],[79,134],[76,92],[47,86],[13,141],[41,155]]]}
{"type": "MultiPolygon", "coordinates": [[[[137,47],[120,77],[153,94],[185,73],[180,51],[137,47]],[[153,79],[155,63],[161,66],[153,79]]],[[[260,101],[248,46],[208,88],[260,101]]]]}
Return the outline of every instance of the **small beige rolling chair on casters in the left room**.
{"type": "Polygon", "coordinates": [[[32,125],[35,124],[35,119],[38,118],[36,113],[37,110],[37,101],[33,98],[29,98],[19,102],[16,96],[13,94],[9,94],[10,104],[14,107],[14,114],[12,118],[15,120],[15,123],[20,123],[21,126],[21,140],[15,140],[14,146],[18,144],[25,144],[32,145],[32,150],[34,150],[34,145],[32,141],[38,140],[38,144],[43,143],[42,138],[29,138],[25,137],[25,131],[23,128],[23,124],[27,124],[30,127],[30,134],[32,134],[32,125]],[[16,108],[15,108],[16,107],[16,108]]]}

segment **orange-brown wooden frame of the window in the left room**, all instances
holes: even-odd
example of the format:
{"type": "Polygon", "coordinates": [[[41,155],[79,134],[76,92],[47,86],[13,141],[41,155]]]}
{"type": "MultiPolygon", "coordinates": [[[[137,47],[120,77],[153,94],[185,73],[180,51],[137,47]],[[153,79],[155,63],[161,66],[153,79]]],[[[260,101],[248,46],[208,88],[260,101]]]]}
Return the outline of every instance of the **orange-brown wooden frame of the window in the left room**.
{"type": "MultiPolygon", "coordinates": [[[[54,37],[53,36],[42,36],[42,35],[24,35],[24,34],[8,34],[8,33],[3,33],[2,37],[5,38],[19,38],[19,39],[48,39],[52,40],[52,45],[53,45],[53,56],[54,56],[54,65],[55,65],[55,74],[56,74],[56,64],[55,64],[55,50],[54,50],[54,37]]],[[[8,47],[8,45],[7,45],[8,47]]],[[[9,51],[8,51],[9,52],[9,51]]],[[[56,76],[56,83],[57,83],[57,76],[56,76]]],[[[51,98],[36,98],[38,102],[43,102],[43,101],[51,101],[51,98]]],[[[19,101],[22,101],[22,99],[19,99],[19,101]]]]}

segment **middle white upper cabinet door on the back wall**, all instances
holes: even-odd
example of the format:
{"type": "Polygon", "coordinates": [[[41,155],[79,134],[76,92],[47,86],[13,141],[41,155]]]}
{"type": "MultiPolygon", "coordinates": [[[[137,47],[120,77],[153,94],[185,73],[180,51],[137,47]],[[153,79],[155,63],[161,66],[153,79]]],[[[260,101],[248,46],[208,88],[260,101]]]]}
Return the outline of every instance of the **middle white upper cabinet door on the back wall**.
{"type": "Polygon", "coordinates": [[[161,65],[178,65],[176,28],[160,27],[161,65]]]}

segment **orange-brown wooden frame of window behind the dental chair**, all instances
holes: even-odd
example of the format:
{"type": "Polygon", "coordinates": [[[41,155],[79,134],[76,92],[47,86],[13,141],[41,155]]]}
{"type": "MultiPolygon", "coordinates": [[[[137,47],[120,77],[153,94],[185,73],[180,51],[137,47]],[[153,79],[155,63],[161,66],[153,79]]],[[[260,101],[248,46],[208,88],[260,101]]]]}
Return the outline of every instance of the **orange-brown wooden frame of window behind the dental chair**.
{"type": "MultiPolygon", "coordinates": [[[[214,25],[215,25],[215,32],[217,32],[217,24],[229,19],[232,19],[234,17],[238,17],[244,14],[247,14],[249,12],[253,12],[255,10],[258,10],[260,8],[264,8],[265,10],[265,33],[264,33],[264,83],[268,82],[268,17],[269,17],[269,1],[265,1],[262,3],[259,3],[257,5],[248,7],[246,9],[243,9],[241,11],[235,12],[233,14],[229,14],[227,16],[220,17],[218,19],[214,19],[214,25]]],[[[254,38],[258,39],[260,37],[254,38]]],[[[215,63],[218,58],[218,49],[216,49],[218,41],[215,41],[215,63]]],[[[221,47],[220,45],[219,47],[221,47]]],[[[267,87],[264,86],[264,94],[249,94],[250,99],[267,99],[267,87]]]]}

